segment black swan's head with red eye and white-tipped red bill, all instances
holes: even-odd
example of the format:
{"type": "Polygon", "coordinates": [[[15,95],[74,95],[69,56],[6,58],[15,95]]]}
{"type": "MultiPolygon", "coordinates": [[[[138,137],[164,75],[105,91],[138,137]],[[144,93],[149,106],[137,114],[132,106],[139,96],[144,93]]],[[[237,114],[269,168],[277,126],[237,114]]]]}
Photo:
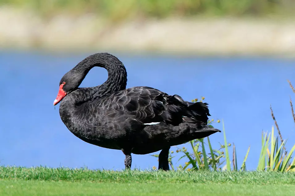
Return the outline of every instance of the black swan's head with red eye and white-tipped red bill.
{"type": "MultiPolygon", "coordinates": [[[[85,76],[84,76],[85,77],[85,76]]],[[[59,83],[59,90],[53,105],[57,105],[69,93],[78,89],[84,77],[81,78],[79,74],[73,73],[73,70],[66,73],[59,83]]]]}

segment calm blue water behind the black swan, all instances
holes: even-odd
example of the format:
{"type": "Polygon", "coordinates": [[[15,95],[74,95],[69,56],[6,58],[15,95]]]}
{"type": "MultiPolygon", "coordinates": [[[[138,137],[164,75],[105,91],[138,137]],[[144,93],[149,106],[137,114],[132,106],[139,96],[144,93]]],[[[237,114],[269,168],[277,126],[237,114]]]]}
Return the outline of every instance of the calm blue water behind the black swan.
{"type": "MultiPolygon", "coordinates": [[[[63,74],[90,53],[0,53],[0,161],[2,165],[123,169],[124,154],[94,146],[76,138],[61,122],[53,106],[63,74]]],[[[271,130],[272,104],[287,149],[295,143],[295,127],[289,95],[295,94],[295,61],[272,58],[181,58],[127,56],[114,53],[126,66],[127,87],[151,86],[185,100],[205,97],[215,121],[223,119],[228,142],[234,142],[238,166],[251,145],[247,169],[257,167],[262,130],[271,130]]],[[[82,82],[96,86],[107,79],[103,68],[94,68],[82,82]]],[[[215,123],[222,129],[222,124],[215,123]]],[[[223,134],[210,136],[213,147],[223,134]]],[[[188,146],[188,145],[180,145],[188,146]]],[[[189,147],[189,146],[188,146],[189,147]]],[[[232,149],[232,148],[231,148],[232,149]]],[[[171,150],[176,150],[172,147],[171,150]]],[[[182,155],[182,154],[181,154],[182,155]]],[[[177,162],[179,165],[184,162],[177,162]]],[[[157,158],[134,155],[132,168],[158,166],[157,158]]]]}

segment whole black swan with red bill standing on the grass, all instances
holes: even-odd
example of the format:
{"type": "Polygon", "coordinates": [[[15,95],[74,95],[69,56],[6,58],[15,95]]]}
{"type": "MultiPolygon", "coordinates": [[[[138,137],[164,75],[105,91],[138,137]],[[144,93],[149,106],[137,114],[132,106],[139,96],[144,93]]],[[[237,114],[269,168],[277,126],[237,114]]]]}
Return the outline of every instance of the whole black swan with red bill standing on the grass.
{"type": "Polygon", "coordinates": [[[179,95],[136,86],[126,89],[123,63],[108,53],[88,56],[60,81],[57,98],[62,122],[78,138],[104,148],[122,150],[125,168],[131,168],[131,153],[159,154],[158,169],[169,170],[170,146],[204,138],[218,129],[207,126],[207,103],[186,102],[179,95]],[[91,68],[108,72],[100,86],[79,88],[91,68]]]}

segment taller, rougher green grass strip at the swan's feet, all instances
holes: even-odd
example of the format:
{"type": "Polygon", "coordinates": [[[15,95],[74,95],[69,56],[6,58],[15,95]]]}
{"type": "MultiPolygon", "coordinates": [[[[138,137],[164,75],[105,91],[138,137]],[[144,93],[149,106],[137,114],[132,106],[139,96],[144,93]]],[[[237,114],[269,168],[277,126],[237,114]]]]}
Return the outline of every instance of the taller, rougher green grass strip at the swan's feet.
{"type": "Polygon", "coordinates": [[[265,171],[112,171],[46,167],[0,167],[0,179],[117,183],[232,183],[295,185],[295,173],[265,171]]]}

